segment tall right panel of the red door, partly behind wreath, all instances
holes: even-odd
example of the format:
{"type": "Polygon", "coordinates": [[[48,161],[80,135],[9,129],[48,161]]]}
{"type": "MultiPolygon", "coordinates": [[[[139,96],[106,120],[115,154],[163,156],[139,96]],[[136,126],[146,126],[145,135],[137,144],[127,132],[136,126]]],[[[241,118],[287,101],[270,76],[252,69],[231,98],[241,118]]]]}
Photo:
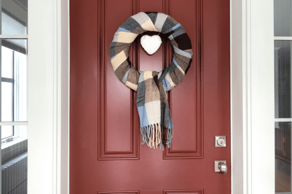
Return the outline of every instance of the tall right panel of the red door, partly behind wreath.
{"type": "MultiPolygon", "coordinates": [[[[202,158],[202,128],[201,128],[201,63],[199,60],[200,45],[200,4],[195,0],[170,0],[169,14],[180,22],[191,39],[193,47],[193,62],[185,79],[172,90],[170,111],[174,127],[172,145],[164,151],[164,159],[199,159],[202,158]],[[196,11],[197,10],[197,11],[196,11]],[[182,14],[192,13],[190,15],[182,14]]],[[[166,40],[167,41],[167,40],[166,40]]],[[[169,41],[167,41],[169,42],[169,41]]],[[[172,51],[171,45],[167,48],[172,51]]],[[[167,53],[170,64],[172,52],[167,53]]]]}

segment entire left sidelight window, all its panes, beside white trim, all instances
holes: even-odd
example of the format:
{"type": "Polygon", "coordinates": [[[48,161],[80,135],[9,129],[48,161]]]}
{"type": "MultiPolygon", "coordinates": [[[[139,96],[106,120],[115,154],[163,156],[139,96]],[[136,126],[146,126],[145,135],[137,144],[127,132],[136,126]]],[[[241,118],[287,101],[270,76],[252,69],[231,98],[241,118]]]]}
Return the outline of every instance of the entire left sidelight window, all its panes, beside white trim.
{"type": "Polygon", "coordinates": [[[27,0],[1,0],[0,5],[0,192],[26,194],[27,0]]]}

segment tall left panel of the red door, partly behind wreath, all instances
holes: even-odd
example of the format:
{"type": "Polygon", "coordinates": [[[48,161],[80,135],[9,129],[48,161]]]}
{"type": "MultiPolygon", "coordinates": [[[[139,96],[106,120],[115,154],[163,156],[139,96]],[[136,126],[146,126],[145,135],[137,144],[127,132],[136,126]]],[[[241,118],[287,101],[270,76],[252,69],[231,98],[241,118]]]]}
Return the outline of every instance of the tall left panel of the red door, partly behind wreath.
{"type": "Polygon", "coordinates": [[[115,79],[109,57],[113,38],[111,32],[116,31],[114,28],[128,19],[125,16],[132,14],[132,1],[121,0],[117,3],[116,0],[106,0],[102,3],[99,13],[102,14],[100,37],[103,45],[99,52],[104,61],[100,64],[102,69],[99,77],[101,84],[99,99],[102,104],[100,115],[103,117],[99,128],[99,159],[138,159],[134,92],[115,79]]]}

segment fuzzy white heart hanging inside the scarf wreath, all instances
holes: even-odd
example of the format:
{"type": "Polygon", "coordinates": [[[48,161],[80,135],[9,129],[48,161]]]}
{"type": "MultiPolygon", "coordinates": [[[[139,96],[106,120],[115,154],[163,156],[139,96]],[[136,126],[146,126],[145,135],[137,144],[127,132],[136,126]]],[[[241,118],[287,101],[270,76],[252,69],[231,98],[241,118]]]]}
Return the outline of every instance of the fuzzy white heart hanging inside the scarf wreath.
{"type": "Polygon", "coordinates": [[[150,55],[155,53],[159,49],[161,43],[162,41],[159,35],[144,35],[141,38],[141,45],[143,49],[150,55]]]}

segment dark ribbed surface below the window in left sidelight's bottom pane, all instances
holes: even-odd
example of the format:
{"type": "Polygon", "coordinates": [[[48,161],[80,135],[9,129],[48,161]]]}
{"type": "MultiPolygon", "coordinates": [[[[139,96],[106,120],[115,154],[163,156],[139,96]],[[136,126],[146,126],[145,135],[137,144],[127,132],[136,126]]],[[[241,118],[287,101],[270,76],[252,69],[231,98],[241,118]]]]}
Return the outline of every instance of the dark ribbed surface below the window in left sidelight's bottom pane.
{"type": "Polygon", "coordinates": [[[27,151],[3,162],[2,194],[27,194],[27,151]]]}

